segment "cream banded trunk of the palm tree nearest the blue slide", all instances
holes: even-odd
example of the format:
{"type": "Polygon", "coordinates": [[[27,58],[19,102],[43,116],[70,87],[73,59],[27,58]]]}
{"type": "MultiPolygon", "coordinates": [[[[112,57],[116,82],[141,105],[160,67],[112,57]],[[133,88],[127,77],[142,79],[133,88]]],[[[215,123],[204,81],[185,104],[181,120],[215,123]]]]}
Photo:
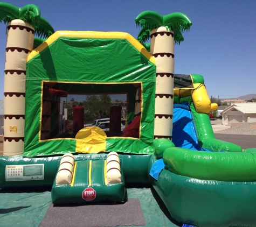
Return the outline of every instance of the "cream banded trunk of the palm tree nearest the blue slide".
{"type": "Polygon", "coordinates": [[[174,105],[174,33],[162,26],[153,29],[150,38],[150,52],[156,61],[154,138],[171,140],[174,105]]]}

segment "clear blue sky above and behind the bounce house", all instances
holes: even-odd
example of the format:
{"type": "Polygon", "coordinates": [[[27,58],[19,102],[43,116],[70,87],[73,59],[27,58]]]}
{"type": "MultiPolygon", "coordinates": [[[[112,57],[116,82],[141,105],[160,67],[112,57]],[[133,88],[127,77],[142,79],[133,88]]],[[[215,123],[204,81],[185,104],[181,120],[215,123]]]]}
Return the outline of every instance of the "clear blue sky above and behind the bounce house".
{"type": "MultiPolygon", "coordinates": [[[[121,31],[137,37],[134,19],[154,10],[161,15],[183,12],[193,25],[175,45],[175,73],[202,74],[209,97],[256,94],[255,0],[13,0],[38,5],[55,31],[121,31]]],[[[0,23],[0,100],[4,97],[6,25],[0,23]]]]}

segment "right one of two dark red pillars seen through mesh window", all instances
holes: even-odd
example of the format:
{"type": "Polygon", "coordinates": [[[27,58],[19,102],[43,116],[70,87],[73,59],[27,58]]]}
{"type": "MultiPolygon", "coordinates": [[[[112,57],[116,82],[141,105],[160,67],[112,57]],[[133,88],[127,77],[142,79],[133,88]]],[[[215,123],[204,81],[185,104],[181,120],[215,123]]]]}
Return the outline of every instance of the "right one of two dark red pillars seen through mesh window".
{"type": "Polygon", "coordinates": [[[121,136],[122,107],[110,108],[109,136],[121,136]]]}

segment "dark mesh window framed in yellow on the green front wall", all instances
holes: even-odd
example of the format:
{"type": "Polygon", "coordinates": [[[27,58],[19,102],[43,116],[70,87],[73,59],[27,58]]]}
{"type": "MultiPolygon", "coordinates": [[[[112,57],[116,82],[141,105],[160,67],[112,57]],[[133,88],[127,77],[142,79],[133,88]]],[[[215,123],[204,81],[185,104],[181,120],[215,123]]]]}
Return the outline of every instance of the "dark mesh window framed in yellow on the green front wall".
{"type": "MultiPolygon", "coordinates": [[[[140,83],[44,82],[41,140],[74,138],[80,129],[92,125],[100,127],[107,136],[123,136],[123,130],[140,115],[140,88],[140,83]]],[[[124,136],[138,137],[140,120],[136,127],[136,135],[124,136]]]]}

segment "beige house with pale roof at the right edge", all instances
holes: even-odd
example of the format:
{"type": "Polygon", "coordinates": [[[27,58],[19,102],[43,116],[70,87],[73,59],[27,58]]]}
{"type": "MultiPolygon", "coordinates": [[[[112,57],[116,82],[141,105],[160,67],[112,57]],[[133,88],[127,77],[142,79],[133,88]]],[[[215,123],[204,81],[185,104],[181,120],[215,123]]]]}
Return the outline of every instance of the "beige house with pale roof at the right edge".
{"type": "Polygon", "coordinates": [[[222,111],[223,125],[234,126],[245,122],[256,122],[256,103],[232,104],[222,111]]]}

